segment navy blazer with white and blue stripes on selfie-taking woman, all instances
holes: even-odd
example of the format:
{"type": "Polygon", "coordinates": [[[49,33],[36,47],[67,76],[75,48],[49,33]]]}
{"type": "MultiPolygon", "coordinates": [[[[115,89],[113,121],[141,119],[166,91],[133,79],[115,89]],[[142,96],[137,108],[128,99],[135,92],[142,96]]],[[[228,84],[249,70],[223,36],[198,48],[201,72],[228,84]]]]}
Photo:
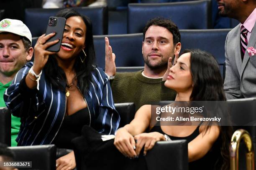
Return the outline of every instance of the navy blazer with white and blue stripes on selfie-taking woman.
{"type": "MultiPolygon", "coordinates": [[[[4,100],[13,115],[20,117],[18,145],[51,144],[59,131],[66,111],[66,95],[46,82],[44,70],[39,91],[29,89],[25,77],[33,62],[28,62],[5,91],[4,100]],[[23,78],[24,77],[24,78],[23,78]]],[[[95,67],[92,81],[84,94],[90,113],[90,126],[99,133],[115,134],[120,116],[115,110],[110,83],[105,72],[95,67]]]]}

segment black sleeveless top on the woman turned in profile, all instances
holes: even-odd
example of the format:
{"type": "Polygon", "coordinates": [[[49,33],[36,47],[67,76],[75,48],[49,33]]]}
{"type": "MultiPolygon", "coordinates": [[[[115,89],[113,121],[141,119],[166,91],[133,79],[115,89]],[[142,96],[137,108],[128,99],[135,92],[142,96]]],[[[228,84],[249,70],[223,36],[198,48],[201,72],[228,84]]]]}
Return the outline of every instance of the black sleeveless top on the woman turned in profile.
{"type": "MultiPolygon", "coordinates": [[[[187,143],[189,143],[200,134],[199,128],[200,128],[200,125],[197,126],[196,130],[191,135],[186,137],[176,137],[171,135],[168,135],[168,136],[171,140],[187,140],[187,143]]],[[[165,134],[161,129],[161,126],[154,126],[150,130],[150,132],[159,132],[159,133],[165,134]]],[[[189,170],[217,170],[218,168],[215,167],[215,163],[217,163],[218,159],[221,156],[220,147],[221,147],[221,141],[219,136],[218,139],[215,141],[215,143],[212,145],[212,148],[203,158],[189,163],[189,170]]]]}

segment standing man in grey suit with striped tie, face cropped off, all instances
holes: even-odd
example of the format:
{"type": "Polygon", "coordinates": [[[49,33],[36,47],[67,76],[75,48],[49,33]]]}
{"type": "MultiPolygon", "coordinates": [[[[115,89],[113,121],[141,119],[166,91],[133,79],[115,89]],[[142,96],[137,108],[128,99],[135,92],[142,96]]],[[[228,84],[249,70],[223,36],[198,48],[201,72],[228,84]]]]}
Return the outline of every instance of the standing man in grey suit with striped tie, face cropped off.
{"type": "Polygon", "coordinates": [[[226,37],[226,74],[224,90],[227,99],[256,97],[256,0],[217,0],[221,16],[240,22],[226,37]]]}

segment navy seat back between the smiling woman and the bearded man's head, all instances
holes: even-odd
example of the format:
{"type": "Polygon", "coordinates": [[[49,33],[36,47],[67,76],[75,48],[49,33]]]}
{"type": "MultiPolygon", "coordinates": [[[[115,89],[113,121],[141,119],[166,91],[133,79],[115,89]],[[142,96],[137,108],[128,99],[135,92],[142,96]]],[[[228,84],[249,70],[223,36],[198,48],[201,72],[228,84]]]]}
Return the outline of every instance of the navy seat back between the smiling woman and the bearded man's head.
{"type": "MultiPolygon", "coordinates": [[[[93,36],[97,65],[105,68],[104,35],[93,36]]],[[[108,35],[110,45],[115,53],[116,67],[144,66],[142,55],[143,34],[108,35]]]]}

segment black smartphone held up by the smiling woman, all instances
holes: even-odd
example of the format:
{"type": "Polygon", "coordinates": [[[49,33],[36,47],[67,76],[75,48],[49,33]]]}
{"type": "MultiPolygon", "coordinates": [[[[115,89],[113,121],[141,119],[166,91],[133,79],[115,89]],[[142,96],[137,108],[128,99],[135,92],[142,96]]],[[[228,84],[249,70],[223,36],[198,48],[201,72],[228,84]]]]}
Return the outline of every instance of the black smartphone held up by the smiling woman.
{"type": "Polygon", "coordinates": [[[59,42],[48,47],[46,50],[52,52],[58,52],[61,46],[61,41],[63,37],[63,32],[66,24],[66,19],[61,17],[50,17],[48,21],[48,26],[46,29],[46,35],[56,32],[54,37],[51,37],[47,42],[59,39],[59,42]]]}

